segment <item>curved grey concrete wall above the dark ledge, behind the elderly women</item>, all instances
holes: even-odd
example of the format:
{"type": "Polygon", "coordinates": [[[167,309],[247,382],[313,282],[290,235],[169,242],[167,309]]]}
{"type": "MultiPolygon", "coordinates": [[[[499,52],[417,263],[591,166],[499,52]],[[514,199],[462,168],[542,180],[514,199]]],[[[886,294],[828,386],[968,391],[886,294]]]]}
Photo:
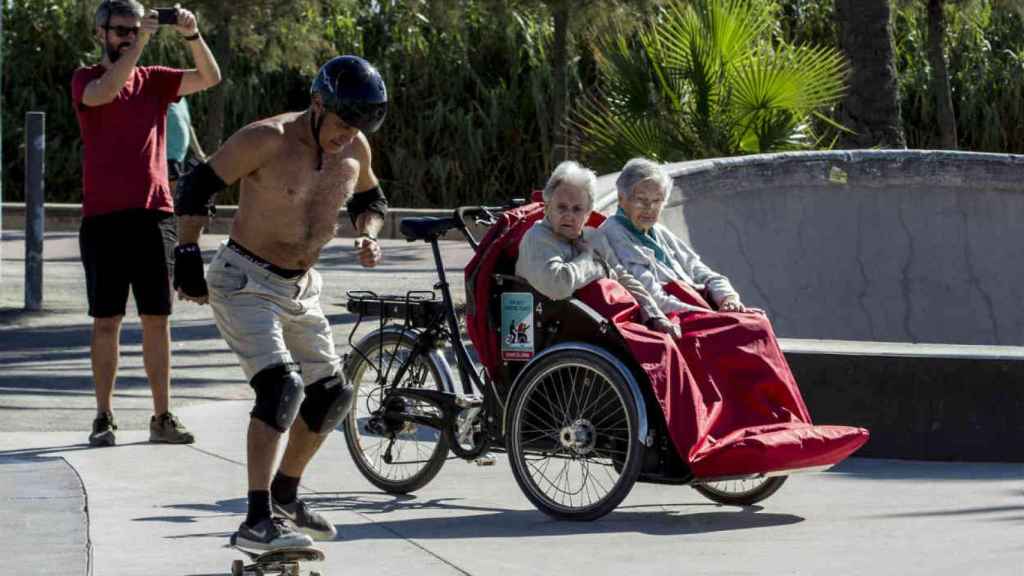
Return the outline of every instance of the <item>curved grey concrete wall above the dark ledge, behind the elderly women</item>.
{"type": "Polygon", "coordinates": [[[780,336],[1024,344],[1024,156],[787,153],[667,169],[666,223],[780,336]]]}

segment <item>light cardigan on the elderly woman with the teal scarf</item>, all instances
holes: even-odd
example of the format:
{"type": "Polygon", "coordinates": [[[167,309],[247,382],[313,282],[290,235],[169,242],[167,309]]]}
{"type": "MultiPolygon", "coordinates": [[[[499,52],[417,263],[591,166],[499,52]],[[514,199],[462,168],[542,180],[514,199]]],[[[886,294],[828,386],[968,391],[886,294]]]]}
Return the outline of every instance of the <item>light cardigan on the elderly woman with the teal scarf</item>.
{"type": "Polygon", "coordinates": [[[651,230],[654,239],[665,248],[671,266],[658,261],[654,251],[640,244],[617,218],[604,220],[600,230],[622,265],[643,284],[665,314],[701,310],[683,302],[662,287],[676,280],[698,290],[707,288],[716,306],[729,296],[739,297],[728,278],[708,268],[692,248],[662,224],[654,224],[651,230]]]}

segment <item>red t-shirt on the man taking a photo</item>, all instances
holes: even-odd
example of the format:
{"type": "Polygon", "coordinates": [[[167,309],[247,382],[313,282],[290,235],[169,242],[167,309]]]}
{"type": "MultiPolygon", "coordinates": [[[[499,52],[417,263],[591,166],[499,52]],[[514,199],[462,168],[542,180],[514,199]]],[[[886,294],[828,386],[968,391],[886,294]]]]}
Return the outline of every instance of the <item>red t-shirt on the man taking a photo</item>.
{"type": "Polygon", "coordinates": [[[181,70],[136,67],[113,101],[82,104],[105,70],[75,71],[71,97],[82,132],[82,215],[144,208],[174,210],[167,181],[167,107],[178,99],[181,70]]]}

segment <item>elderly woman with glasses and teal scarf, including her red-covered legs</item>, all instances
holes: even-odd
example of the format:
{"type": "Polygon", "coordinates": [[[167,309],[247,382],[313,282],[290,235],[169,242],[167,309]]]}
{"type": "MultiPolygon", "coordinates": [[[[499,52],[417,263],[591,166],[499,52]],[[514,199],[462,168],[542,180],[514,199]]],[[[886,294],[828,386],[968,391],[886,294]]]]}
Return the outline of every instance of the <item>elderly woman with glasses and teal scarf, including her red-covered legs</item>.
{"type": "Polygon", "coordinates": [[[702,397],[742,398],[744,406],[781,403],[785,410],[766,412],[758,420],[762,423],[791,417],[809,421],[768,318],[744,306],[725,276],[658,223],[672,178],[654,162],[638,158],[623,167],[615,187],[620,210],[600,230],[622,265],[679,323],[677,343],[702,397]]]}

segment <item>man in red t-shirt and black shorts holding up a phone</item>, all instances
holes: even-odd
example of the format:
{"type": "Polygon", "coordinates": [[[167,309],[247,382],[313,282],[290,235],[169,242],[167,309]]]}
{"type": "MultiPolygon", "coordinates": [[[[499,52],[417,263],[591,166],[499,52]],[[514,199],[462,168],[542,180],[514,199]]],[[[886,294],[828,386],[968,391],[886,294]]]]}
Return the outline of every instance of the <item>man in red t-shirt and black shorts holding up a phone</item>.
{"type": "Polygon", "coordinates": [[[96,419],[89,444],[112,446],[117,429],[111,401],[117,376],[121,321],[128,291],[142,324],[142,361],[153,390],[151,442],[191,443],[170,413],[174,206],[167,182],[167,107],[220,82],[220,70],[185,9],[166,14],[191,49],[195,70],[136,67],[160,22],[135,0],[104,0],[96,9],[102,61],[80,68],[72,99],[82,132],[82,228],[92,322],[96,419]]]}

